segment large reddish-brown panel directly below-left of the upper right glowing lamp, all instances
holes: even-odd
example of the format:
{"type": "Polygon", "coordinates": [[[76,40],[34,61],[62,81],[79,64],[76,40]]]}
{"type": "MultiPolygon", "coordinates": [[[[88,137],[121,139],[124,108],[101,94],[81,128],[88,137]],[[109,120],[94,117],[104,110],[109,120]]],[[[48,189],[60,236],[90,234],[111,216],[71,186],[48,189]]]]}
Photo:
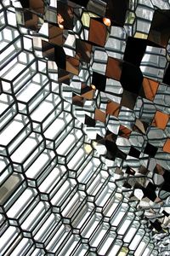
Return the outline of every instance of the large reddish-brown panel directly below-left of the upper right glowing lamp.
{"type": "Polygon", "coordinates": [[[94,44],[105,46],[106,36],[107,36],[106,26],[103,23],[99,22],[99,20],[95,20],[91,18],[88,40],[94,44]]]}

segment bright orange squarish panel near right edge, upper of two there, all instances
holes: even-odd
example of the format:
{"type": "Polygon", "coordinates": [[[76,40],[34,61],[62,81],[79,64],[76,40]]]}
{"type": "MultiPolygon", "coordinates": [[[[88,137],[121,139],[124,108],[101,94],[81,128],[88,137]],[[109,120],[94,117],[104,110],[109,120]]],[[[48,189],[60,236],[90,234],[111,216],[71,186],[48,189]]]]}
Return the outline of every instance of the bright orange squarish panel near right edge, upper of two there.
{"type": "Polygon", "coordinates": [[[153,119],[151,125],[154,125],[157,128],[164,130],[167,126],[168,120],[169,120],[169,115],[167,113],[162,113],[161,111],[156,111],[156,114],[154,116],[154,119],[153,119]]]}

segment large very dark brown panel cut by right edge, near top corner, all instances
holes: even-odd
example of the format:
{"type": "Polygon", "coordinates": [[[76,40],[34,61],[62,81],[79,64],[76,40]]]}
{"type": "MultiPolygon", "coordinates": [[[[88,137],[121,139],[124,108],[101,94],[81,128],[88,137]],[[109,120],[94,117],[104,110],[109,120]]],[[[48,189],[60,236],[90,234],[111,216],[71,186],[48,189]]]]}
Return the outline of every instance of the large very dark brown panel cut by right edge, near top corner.
{"type": "Polygon", "coordinates": [[[170,10],[155,10],[153,20],[150,26],[148,39],[162,47],[167,47],[170,37],[170,10]]]}

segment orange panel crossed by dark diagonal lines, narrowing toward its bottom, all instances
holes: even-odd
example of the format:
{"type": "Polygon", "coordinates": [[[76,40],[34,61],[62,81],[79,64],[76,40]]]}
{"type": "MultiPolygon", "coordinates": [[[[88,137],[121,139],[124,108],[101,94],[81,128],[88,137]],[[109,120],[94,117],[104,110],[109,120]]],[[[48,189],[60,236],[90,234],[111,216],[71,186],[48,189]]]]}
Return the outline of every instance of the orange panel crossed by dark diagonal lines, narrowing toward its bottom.
{"type": "Polygon", "coordinates": [[[151,79],[144,78],[143,89],[144,89],[144,95],[146,99],[150,101],[154,100],[158,86],[159,86],[158,82],[151,79]]]}

